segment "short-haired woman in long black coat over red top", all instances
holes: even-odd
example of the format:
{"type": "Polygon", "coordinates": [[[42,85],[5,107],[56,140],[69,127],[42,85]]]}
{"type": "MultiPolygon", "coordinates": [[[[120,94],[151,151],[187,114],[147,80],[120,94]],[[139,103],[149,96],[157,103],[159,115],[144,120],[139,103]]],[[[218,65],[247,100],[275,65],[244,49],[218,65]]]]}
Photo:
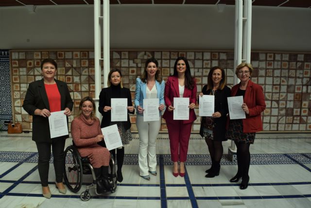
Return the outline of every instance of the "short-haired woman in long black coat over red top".
{"type": "MultiPolygon", "coordinates": [[[[49,161],[51,158],[51,145],[53,152],[53,164],[56,175],[56,188],[61,193],[66,193],[63,185],[64,172],[64,147],[65,139],[69,135],[51,139],[49,116],[52,112],[65,111],[70,115],[73,102],[65,82],[54,79],[57,71],[57,63],[46,58],[41,62],[43,79],[29,84],[24,102],[24,110],[33,116],[33,140],[38,149],[38,170],[42,185],[42,193],[46,198],[51,198],[48,186],[49,161]]],[[[67,119],[68,121],[68,119],[67,119]]]]}

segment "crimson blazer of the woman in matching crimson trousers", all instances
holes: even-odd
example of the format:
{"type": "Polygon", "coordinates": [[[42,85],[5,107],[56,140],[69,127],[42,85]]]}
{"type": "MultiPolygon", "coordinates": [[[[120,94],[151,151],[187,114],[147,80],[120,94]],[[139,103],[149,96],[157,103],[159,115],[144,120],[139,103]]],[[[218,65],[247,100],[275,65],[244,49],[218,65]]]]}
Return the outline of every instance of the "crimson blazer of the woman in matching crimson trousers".
{"type": "MultiPolygon", "coordinates": [[[[164,101],[166,105],[166,110],[163,114],[163,118],[167,123],[173,122],[173,111],[169,112],[168,107],[172,105],[174,97],[179,97],[179,86],[178,86],[178,78],[176,76],[169,76],[165,83],[164,88],[164,101]]],[[[194,86],[192,90],[189,90],[185,87],[183,97],[189,97],[190,103],[196,104],[196,83],[194,82],[194,86]]],[[[189,104],[190,104],[189,103],[189,104]]],[[[194,113],[194,109],[190,109],[189,111],[189,120],[183,120],[183,123],[192,123],[195,121],[196,115],[194,113]]]]}

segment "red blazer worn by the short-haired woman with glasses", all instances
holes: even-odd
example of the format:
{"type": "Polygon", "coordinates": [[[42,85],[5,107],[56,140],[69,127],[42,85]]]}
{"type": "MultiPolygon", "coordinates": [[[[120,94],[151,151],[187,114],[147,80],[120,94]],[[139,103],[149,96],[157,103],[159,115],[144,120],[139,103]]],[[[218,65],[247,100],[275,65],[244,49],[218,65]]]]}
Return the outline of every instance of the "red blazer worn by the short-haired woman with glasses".
{"type": "MultiPolygon", "coordinates": [[[[231,96],[237,94],[239,87],[240,84],[232,87],[231,96]]],[[[261,112],[266,109],[262,87],[249,80],[243,100],[249,110],[249,114],[246,114],[246,118],[242,119],[243,132],[250,133],[262,131],[261,112]]]]}

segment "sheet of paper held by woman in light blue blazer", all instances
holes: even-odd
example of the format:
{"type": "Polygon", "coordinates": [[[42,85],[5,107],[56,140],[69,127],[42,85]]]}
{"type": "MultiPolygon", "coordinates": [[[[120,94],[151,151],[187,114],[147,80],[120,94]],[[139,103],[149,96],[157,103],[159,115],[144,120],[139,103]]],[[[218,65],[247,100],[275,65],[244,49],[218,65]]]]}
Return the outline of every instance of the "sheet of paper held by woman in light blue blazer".
{"type": "Polygon", "coordinates": [[[159,98],[143,99],[144,121],[158,121],[159,116],[159,98]]]}

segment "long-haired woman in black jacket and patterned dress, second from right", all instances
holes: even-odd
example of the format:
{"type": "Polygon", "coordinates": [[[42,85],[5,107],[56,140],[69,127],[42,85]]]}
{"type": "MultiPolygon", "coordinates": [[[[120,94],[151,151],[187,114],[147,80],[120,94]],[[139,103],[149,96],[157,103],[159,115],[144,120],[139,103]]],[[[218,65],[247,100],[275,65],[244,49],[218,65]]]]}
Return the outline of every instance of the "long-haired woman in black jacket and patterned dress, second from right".
{"type": "Polygon", "coordinates": [[[211,117],[202,117],[200,134],[205,138],[208,151],[212,161],[212,166],[205,172],[207,178],[213,178],[219,175],[220,160],[223,156],[222,141],[226,141],[225,127],[228,113],[227,97],[230,96],[230,88],[226,85],[225,70],[215,66],[207,76],[207,85],[202,89],[203,95],[214,95],[215,97],[215,110],[211,117]]]}

